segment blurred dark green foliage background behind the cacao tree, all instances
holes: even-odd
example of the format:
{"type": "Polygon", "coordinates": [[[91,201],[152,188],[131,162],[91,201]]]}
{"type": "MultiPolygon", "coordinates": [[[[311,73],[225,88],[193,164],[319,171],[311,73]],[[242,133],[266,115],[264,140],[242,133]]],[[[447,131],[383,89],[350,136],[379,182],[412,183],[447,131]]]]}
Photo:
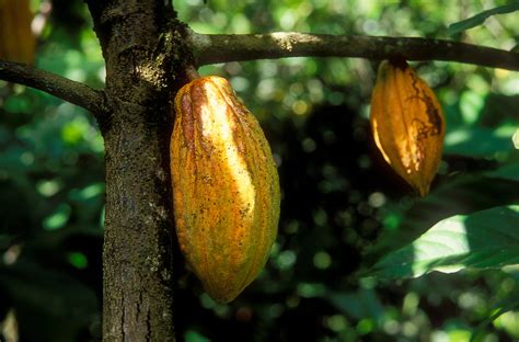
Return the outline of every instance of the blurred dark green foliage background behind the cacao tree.
{"type": "MultiPolygon", "coordinates": [[[[199,33],[420,36],[511,49],[517,12],[448,31],[506,3],[174,1],[199,33]]],[[[102,88],[104,61],[85,4],[33,0],[32,8],[43,27],[36,66],[102,88]]],[[[279,166],[281,218],[265,271],[230,305],[214,303],[193,274],[176,270],[178,340],[442,342],[469,341],[475,331],[476,341],[519,339],[518,266],[358,276],[440,219],[519,203],[518,73],[412,64],[447,119],[439,174],[418,198],[371,140],[377,65],[308,57],[200,69],[228,78],[261,121],[279,166]]],[[[0,81],[0,341],[100,339],[103,158],[84,110],[0,81]]],[[[482,221],[493,225],[488,215],[482,221]]]]}

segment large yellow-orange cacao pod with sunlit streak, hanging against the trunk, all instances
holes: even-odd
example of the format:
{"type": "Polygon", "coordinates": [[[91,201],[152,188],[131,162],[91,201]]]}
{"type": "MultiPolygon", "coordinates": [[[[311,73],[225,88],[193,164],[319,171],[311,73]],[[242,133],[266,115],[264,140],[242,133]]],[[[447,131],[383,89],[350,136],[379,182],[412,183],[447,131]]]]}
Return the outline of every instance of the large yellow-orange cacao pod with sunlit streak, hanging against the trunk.
{"type": "Polygon", "coordinates": [[[258,122],[226,79],[196,79],[174,104],[170,152],[178,244],[209,296],[229,303],[257,276],[276,239],[276,166],[258,122]]]}

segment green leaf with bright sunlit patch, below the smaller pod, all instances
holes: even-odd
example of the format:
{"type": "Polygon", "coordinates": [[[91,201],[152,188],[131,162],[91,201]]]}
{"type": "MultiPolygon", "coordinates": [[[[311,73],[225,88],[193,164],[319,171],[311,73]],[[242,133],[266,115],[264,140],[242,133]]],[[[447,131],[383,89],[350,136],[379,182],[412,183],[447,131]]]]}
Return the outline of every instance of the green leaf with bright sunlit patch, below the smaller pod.
{"type": "Polygon", "coordinates": [[[519,263],[519,206],[449,217],[412,243],[385,255],[369,272],[383,278],[417,277],[431,271],[492,269],[519,263]]]}

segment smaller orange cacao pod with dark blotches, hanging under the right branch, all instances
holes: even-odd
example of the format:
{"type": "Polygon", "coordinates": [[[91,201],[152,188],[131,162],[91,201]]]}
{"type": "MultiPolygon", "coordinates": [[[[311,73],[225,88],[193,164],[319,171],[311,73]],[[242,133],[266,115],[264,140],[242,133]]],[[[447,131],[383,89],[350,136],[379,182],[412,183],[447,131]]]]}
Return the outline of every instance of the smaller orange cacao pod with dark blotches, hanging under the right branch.
{"type": "Polygon", "coordinates": [[[405,60],[380,65],[370,122],[385,161],[425,196],[441,160],[445,119],[435,93],[405,60]]]}

